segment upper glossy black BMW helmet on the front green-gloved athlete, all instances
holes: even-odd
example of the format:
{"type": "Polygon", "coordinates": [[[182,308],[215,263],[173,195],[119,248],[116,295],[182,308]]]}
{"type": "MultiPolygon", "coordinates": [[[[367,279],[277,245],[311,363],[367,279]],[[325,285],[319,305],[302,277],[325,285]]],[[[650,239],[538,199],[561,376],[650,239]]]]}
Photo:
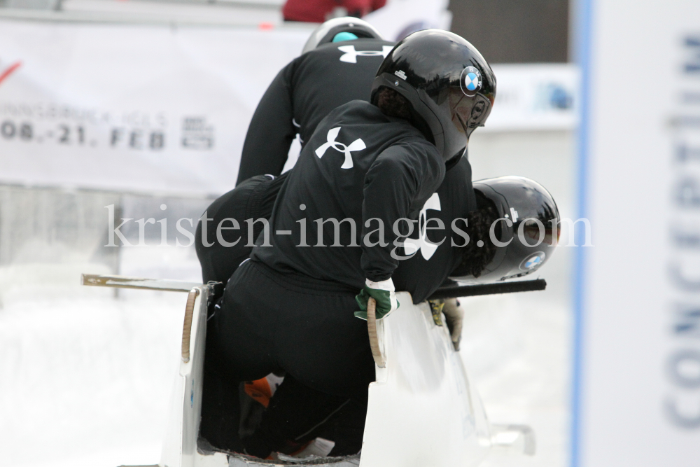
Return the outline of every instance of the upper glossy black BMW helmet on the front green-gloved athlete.
{"type": "Polygon", "coordinates": [[[496,76],[460,36],[425,29],[400,41],[381,62],[372,83],[372,104],[377,104],[381,87],[408,99],[413,123],[432,134],[447,162],[461,157],[471,132],[484,126],[496,97],[496,76]]]}

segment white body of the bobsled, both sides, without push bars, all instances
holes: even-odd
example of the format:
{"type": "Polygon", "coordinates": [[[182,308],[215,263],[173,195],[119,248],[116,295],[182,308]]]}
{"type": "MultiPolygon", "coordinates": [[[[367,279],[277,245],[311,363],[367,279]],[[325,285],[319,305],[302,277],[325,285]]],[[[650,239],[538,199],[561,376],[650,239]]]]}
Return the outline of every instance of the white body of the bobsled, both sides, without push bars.
{"type": "MultiPolygon", "coordinates": [[[[162,467],[229,466],[223,453],[197,452],[207,293],[198,288],[193,305],[190,358],[181,356],[174,381],[162,467]]],[[[400,308],[378,323],[386,368],[375,367],[377,381],[369,387],[359,466],[477,466],[491,445],[489,424],[447,328],[435,324],[426,302],[413,305],[408,293],[397,295],[400,308]]],[[[231,465],[258,464],[242,456],[230,460],[231,465]]],[[[357,465],[355,459],[329,461],[337,467],[357,465]]]]}

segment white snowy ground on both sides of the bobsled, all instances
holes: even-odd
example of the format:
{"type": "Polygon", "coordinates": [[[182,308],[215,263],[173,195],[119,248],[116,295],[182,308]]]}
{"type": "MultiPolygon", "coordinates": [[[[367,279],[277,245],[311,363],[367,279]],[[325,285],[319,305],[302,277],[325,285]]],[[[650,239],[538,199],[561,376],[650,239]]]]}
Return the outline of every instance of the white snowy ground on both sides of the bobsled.
{"type": "MultiPolygon", "coordinates": [[[[87,263],[0,267],[0,454],[3,466],[158,463],[186,294],[78,286],[87,263]]],[[[553,268],[556,270],[556,266],[553,268]]],[[[132,247],[120,273],[197,281],[193,249],[132,247]]],[[[543,277],[547,277],[544,274],[543,277]]],[[[547,293],[462,299],[462,356],[496,423],[535,428],[532,458],[566,463],[568,320],[547,293]]]]}

